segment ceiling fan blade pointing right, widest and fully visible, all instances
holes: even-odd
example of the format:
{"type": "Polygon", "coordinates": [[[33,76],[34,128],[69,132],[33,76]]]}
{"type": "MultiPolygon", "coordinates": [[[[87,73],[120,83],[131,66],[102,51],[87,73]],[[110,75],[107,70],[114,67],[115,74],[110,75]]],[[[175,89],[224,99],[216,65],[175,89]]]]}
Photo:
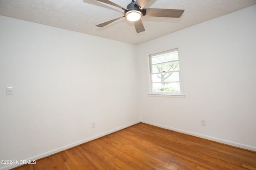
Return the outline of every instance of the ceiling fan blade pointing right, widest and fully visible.
{"type": "Polygon", "coordinates": [[[172,10],[172,9],[158,9],[158,8],[144,8],[146,9],[145,16],[152,17],[170,17],[180,18],[185,10],[172,10]]]}

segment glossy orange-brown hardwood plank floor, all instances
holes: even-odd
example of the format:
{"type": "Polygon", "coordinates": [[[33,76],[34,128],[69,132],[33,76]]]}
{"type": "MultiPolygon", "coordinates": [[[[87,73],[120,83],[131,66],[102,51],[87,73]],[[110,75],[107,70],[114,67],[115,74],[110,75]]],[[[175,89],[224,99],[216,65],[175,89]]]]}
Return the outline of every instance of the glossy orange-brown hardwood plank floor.
{"type": "Polygon", "coordinates": [[[15,170],[256,170],[256,152],[138,123],[15,170]]]}

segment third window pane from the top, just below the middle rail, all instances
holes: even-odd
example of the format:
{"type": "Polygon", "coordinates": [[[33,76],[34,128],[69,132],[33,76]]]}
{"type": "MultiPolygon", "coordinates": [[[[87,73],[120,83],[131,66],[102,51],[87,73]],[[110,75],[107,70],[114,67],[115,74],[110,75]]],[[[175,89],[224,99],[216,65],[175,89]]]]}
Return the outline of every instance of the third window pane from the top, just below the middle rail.
{"type": "Polygon", "coordinates": [[[152,74],[152,82],[177,82],[177,81],[179,81],[179,72],[152,74]]]}

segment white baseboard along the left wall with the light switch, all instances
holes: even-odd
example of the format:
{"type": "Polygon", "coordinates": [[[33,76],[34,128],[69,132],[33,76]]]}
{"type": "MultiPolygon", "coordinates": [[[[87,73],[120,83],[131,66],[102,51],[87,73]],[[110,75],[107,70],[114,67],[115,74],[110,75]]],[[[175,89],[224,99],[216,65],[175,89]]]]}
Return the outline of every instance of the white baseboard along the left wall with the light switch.
{"type": "MultiPolygon", "coordinates": [[[[52,155],[52,154],[61,152],[61,151],[66,150],[66,149],[70,149],[70,148],[72,148],[72,147],[75,147],[75,146],[77,146],[77,145],[81,145],[81,144],[83,144],[83,143],[92,141],[92,140],[94,140],[94,139],[97,139],[97,138],[106,136],[106,135],[108,135],[108,134],[110,134],[110,133],[114,133],[114,132],[116,132],[116,131],[122,130],[122,129],[126,128],[126,127],[130,127],[130,126],[135,125],[135,124],[137,124],[137,123],[140,123],[140,121],[135,121],[135,122],[129,123],[129,124],[127,124],[127,125],[118,127],[118,128],[116,128],[116,129],[112,129],[112,130],[110,130],[110,131],[106,131],[106,132],[104,132],[104,133],[101,133],[101,134],[99,134],[99,135],[95,135],[95,136],[89,137],[89,138],[87,138],[87,139],[83,139],[82,141],[78,141],[78,142],[75,142],[75,143],[71,143],[71,144],[66,145],[66,146],[64,146],[64,147],[60,147],[60,148],[57,148],[57,149],[54,149],[54,150],[50,150],[50,151],[48,151],[48,152],[44,152],[44,153],[42,153],[42,154],[39,154],[39,155],[36,155],[36,156],[32,156],[32,157],[26,158],[26,159],[24,159],[24,160],[32,160],[32,161],[33,161],[33,160],[38,160],[38,159],[40,159],[40,158],[44,158],[44,157],[46,157],[46,156],[49,156],[49,155],[52,155]]],[[[7,166],[4,166],[4,167],[0,168],[0,170],[9,170],[9,169],[11,169],[11,168],[15,168],[15,167],[21,166],[21,165],[22,165],[22,164],[10,164],[10,165],[7,165],[7,166]]]]}

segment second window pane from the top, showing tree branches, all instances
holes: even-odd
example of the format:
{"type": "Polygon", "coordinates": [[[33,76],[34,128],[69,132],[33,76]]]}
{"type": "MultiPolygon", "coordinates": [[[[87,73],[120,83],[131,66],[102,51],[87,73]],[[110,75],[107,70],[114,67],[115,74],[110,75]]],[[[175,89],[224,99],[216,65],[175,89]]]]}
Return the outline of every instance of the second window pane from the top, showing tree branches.
{"type": "Polygon", "coordinates": [[[174,61],[170,63],[152,65],[152,73],[155,72],[168,72],[168,71],[180,70],[179,62],[174,61]]]}

